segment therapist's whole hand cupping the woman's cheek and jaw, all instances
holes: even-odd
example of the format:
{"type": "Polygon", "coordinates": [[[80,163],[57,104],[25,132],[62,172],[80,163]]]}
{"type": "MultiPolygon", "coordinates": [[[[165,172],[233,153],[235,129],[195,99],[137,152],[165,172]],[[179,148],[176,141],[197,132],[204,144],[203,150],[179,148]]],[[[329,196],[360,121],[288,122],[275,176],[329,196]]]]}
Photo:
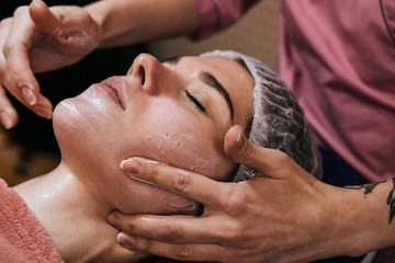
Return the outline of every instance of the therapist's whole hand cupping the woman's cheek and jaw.
{"type": "Polygon", "coordinates": [[[336,198],[327,198],[326,185],[286,155],[253,146],[244,136],[237,140],[239,132],[238,126],[229,129],[225,151],[257,171],[245,183],[215,182],[137,158],[124,162],[128,175],[198,201],[204,213],[195,217],[113,211],[109,221],[122,230],[117,241],[131,250],[188,261],[308,262],[329,256],[320,253],[324,247],[330,251],[324,240],[330,240],[336,225],[330,220],[337,213],[325,201],[336,198]]]}

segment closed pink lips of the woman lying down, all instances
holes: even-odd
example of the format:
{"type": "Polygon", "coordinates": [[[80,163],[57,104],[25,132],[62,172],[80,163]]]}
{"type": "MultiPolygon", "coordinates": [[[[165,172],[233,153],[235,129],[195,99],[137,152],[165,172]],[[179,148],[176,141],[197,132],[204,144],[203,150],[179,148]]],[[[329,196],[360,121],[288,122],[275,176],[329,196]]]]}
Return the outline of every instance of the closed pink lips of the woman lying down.
{"type": "Polygon", "coordinates": [[[124,81],[116,77],[112,77],[95,85],[103,90],[109,95],[109,98],[119,104],[124,111],[126,110],[124,81]]]}

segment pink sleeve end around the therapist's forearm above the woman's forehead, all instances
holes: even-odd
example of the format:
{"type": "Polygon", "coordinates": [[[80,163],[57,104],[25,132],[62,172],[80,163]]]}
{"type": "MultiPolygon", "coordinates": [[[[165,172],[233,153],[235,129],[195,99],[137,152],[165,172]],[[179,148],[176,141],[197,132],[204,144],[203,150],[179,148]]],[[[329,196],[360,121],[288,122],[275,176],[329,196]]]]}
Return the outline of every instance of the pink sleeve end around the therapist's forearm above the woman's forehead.
{"type": "Polygon", "coordinates": [[[195,0],[201,28],[192,38],[200,39],[236,22],[259,0],[195,0]]]}

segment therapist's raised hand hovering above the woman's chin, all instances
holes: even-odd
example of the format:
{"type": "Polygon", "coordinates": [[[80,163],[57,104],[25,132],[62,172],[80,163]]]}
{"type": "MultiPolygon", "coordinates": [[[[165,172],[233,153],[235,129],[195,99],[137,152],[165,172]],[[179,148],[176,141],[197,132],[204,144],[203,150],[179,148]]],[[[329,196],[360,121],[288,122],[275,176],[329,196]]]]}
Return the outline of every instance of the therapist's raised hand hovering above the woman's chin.
{"type": "MultiPolygon", "coordinates": [[[[53,105],[41,94],[34,72],[58,69],[83,58],[100,38],[99,25],[82,8],[48,8],[34,0],[0,23],[0,90],[7,89],[37,115],[52,117],[53,105]]],[[[0,94],[0,121],[7,128],[18,114],[0,94]]]]}

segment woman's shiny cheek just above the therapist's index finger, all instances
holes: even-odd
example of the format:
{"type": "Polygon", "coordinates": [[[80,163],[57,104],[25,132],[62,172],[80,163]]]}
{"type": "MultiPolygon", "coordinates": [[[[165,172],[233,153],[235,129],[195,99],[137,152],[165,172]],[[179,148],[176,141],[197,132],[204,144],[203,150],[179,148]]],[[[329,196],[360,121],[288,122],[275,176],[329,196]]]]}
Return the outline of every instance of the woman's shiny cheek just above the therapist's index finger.
{"type": "Polygon", "coordinates": [[[143,157],[170,165],[191,170],[215,179],[214,173],[224,164],[224,155],[216,149],[216,141],[208,122],[187,110],[160,103],[149,107],[137,122],[140,136],[138,149],[143,157]],[[148,151],[146,149],[149,149],[148,151]]]}

